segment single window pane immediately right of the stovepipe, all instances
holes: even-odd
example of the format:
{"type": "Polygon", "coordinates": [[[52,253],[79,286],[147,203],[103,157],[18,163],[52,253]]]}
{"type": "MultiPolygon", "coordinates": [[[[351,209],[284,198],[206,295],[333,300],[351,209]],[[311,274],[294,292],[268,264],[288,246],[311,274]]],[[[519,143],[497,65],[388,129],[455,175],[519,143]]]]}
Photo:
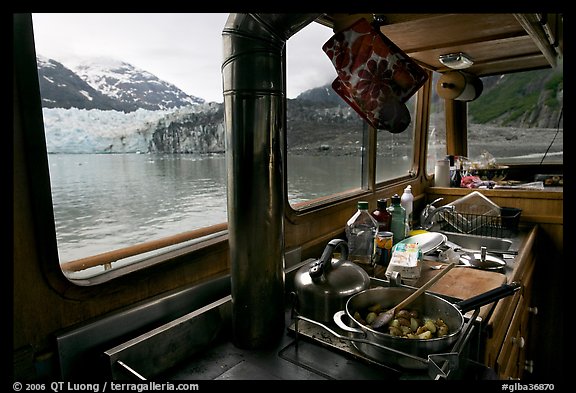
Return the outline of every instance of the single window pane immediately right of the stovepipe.
{"type": "Polygon", "coordinates": [[[336,70],[322,45],[333,34],[330,28],[311,23],[287,41],[286,172],[293,207],[362,188],[367,127],[332,89],[336,70]],[[312,50],[303,52],[302,41],[312,43],[312,50]],[[301,58],[309,66],[296,63],[301,58]]]}

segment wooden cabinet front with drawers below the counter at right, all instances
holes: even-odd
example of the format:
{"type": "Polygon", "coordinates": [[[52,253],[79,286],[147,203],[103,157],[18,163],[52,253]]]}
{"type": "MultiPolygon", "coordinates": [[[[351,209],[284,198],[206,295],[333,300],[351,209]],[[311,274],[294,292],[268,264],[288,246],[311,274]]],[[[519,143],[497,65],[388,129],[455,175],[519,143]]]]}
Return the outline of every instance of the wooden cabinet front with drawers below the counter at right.
{"type": "Polygon", "coordinates": [[[531,295],[536,235],[537,227],[524,242],[510,275],[509,282],[521,282],[522,289],[500,300],[487,322],[484,362],[500,379],[522,379],[525,371],[531,371],[529,348],[530,325],[534,316],[531,295]]]}

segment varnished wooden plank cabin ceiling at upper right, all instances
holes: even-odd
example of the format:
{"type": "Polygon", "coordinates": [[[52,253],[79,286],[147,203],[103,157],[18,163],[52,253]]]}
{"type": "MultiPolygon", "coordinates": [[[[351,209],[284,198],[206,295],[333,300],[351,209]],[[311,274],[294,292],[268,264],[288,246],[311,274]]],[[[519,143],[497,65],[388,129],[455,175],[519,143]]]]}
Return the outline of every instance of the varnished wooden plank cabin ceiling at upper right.
{"type": "Polygon", "coordinates": [[[477,76],[555,67],[563,54],[561,14],[325,14],[335,31],[360,17],[382,18],[380,30],[423,67],[445,72],[443,54],[463,52],[477,76]]]}

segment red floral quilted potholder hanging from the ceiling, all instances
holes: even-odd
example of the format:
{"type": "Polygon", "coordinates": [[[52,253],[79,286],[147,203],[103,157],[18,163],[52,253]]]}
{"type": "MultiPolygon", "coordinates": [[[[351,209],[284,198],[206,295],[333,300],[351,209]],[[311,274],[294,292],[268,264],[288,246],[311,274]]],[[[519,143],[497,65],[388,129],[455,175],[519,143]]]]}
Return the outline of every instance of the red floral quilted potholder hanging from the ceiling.
{"type": "Polygon", "coordinates": [[[322,49],[338,74],[332,88],[371,126],[393,133],[408,127],[404,103],[428,79],[418,64],[363,18],[322,49]]]}

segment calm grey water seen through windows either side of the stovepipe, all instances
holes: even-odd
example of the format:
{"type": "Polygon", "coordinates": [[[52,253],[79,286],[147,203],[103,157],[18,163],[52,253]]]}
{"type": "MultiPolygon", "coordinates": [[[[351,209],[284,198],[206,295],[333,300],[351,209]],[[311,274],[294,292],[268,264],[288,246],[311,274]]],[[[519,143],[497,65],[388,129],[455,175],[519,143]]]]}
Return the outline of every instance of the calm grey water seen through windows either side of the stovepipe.
{"type": "MultiPolygon", "coordinates": [[[[62,262],[227,221],[224,155],[50,154],[48,160],[62,262]]],[[[357,157],[297,156],[289,166],[292,203],[360,186],[357,157]]]]}

